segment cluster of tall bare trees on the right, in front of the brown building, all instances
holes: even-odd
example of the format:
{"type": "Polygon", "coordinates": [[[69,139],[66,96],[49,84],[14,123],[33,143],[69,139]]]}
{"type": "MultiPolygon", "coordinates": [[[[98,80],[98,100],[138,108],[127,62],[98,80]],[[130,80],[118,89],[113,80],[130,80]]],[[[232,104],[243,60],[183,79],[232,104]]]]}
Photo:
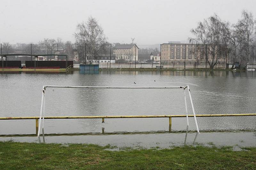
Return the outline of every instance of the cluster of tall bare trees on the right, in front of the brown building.
{"type": "Polygon", "coordinates": [[[242,11],[241,18],[235,23],[220,19],[217,14],[200,21],[190,31],[195,37],[189,42],[205,56],[210,67],[214,67],[220,56],[229,56],[231,63],[240,66],[254,62],[256,45],[256,20],[251,12],[242,11]]]}

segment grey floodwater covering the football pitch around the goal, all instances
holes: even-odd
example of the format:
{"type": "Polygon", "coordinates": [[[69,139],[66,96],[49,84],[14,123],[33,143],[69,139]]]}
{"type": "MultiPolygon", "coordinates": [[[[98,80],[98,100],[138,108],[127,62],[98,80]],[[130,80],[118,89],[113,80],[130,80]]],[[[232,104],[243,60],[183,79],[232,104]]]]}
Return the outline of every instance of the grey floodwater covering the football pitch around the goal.
{"type": "MultiPolygon", "coordinates": [[[[100,71],[4,72],[0,74],[0,117],[39,116],[43,85],[186,86],[196,114],[256,112],[256,72],[100,71]],[[136,84],[134,83],[136,82],[136,84]]],[[[188,98],[188,111],[192,114],[188,98]]],[[[46,89],[45,116],[185,114],[183,89],[46,89]]],[[[172,145],[256,146],[256,116],[45,119],[46,143],[93,143],[118,147],[172,145]]],[[[0,140],[38,142],[35,120],[0,120],[0,140]]],[[[42,140],[42,137],[41,137],[42,140]]]]}

